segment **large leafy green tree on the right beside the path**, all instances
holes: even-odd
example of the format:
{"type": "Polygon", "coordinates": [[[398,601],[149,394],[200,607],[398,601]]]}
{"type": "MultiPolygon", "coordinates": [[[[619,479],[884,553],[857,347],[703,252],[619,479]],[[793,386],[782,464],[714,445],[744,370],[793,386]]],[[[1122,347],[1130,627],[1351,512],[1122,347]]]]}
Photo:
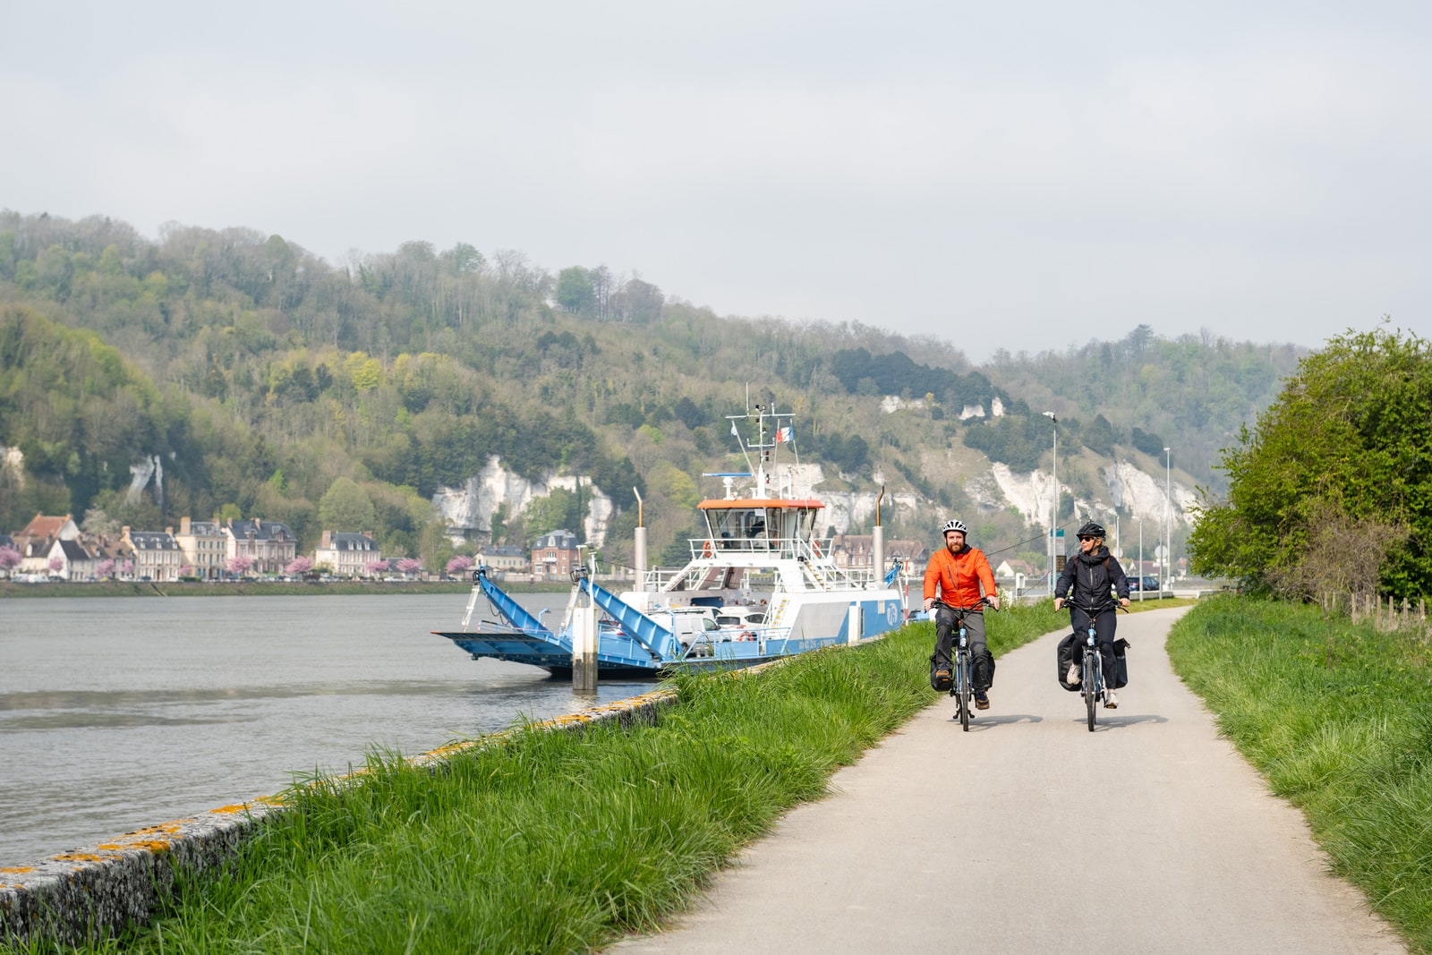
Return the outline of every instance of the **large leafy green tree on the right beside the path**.
{"type": "Polygon", "coordinates": [[[1333,338],[1223,454],[1226,501],[1189,538],[1199,573],[1274,586],[1297,577],[1327,514],[1388,544],[1379,590],[1432,588],[1432,346],[1416,335],[1333,338]],[[1393,533],[1395,531],[1395,533],[1393,533]],[[1406,533],[1403,537],[1403,531],[1406,533]]]}

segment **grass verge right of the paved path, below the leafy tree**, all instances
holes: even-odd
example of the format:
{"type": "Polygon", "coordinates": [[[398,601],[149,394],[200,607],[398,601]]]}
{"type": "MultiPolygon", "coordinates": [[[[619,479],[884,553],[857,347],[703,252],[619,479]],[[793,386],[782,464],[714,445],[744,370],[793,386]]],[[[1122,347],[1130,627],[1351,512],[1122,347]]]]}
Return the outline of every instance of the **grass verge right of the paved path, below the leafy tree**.
{"type": "Polygon", "coordinates": [[[1432,952],[1432,646],[1220,597],[1169,637],[1220,729],[1303,809],[1336,872],[1432,952]]]}

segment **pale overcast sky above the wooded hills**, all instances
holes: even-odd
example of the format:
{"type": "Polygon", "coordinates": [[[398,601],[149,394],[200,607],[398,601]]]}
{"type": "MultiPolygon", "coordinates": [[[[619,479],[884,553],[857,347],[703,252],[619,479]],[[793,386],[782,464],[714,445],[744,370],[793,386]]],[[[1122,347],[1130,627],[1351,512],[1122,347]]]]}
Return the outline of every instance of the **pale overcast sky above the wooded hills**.
{"type": "Polygon", "coordinates": [[[0,208],[607,265],[975,361],[1432,331],[1432,4],[24,3],[0,208]]]}

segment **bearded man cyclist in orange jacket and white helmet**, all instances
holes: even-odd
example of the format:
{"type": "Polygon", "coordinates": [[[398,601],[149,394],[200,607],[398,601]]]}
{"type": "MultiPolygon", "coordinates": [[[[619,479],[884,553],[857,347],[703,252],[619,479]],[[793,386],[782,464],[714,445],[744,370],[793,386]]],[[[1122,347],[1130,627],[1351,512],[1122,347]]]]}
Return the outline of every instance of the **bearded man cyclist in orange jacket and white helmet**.
{"type": "Polygon", "coordinates": [[[965,614],[965,631],[974,657],[975,709],[990,709],[990,687],[994,684],[994,656],[985,643],[984,604],[979,597],[988,597],[990,606],[1000,609],[1000,596],[994,587],[994,571],[984,551],[965,544],[962,521],[947,521],[944,527],[945,546],[929,556],[925,567],[925,611],[938,598],[942,604],[935,610],[935,676],[949,679],[949,636],[955,629],[955,614],[949,607],[972,609],[965,614]],[[981,588],[984,593],[981,594],[981,588]]]}

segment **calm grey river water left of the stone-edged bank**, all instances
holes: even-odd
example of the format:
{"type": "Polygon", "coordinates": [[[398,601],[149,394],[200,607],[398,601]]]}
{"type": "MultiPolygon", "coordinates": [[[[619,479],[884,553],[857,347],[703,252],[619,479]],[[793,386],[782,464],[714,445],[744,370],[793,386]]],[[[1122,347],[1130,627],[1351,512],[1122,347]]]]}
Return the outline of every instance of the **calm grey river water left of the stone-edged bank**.
{"type": "MultiPolygon", "coordinates": [[[[566,606],[533,594],[530,610],[566,606]]],[[[646,693],[473,660],[464,594],[0,600],[0,866],[646,693]]],[[[485,604],[480,604],[485,607],[485,604]]],[[[475,617],[474,617],[475,619],[475,617]]]]}

